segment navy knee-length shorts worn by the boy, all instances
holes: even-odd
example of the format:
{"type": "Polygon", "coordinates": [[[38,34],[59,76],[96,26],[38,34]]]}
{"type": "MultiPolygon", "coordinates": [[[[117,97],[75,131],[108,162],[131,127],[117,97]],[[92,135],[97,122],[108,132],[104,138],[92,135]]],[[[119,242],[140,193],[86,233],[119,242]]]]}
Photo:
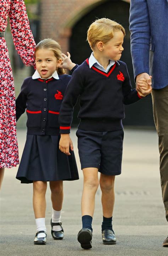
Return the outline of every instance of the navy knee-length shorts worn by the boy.
{"type": "Polygon", "coordinates": [[[78,129],[81,169],[95,167],[106,175],[121,174],[124,131],[85,131],[78,129]]]}

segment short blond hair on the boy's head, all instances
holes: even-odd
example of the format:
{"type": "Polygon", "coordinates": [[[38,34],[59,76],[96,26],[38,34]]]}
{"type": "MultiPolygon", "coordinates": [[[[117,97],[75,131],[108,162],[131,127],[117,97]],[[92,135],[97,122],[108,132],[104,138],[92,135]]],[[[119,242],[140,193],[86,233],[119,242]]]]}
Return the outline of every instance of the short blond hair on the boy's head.
{"type": "Polygon", "coordinates": [[[116,21],[102,18],[91,23],[87,32],[87,41],[93,50],[97,42],[107,43],[114,36],[114,31],[122,31],[125,36],[125,29],[116,21]]]}

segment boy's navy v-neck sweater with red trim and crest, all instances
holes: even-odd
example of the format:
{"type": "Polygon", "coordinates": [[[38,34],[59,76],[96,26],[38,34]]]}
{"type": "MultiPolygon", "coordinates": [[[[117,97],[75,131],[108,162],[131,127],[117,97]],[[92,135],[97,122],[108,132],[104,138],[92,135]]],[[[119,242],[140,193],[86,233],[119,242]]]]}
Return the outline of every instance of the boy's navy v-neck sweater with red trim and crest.
{"type": "Polygon", "coordinates": [[[61,104],[60,133],[68,134],[73,108],[80,96],[79,129],[88,131],[115,131],[123,129],[124,104],[140,100],[132,89],[127,66],[118,61],[108,73],[96,67],[89,68],[86,59],[72,74],[61,104]],[[118,64],[119,63],[119,64],[118,64]]]}

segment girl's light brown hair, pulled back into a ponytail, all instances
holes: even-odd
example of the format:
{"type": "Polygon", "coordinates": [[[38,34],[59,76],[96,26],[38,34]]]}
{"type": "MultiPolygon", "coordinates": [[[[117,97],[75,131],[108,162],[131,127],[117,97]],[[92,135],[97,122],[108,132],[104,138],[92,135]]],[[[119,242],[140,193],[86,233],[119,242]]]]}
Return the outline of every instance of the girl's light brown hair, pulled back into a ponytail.
{"type": "MultiPolygon", "coordinates": [[[[47,49],[47,50],[51,50],[54,52],[54,55],[57,59],[62,59],[62,52],[61,52],[61,47],[60,44],[57,43],[55,40],[52,40],[50,38],[48,39],[44,39],[42,41],[40,41],[37,46],[35,47],[35,52],[34,52],[34,57],[35,57],[35,53],[39,50],[39,49],[47,49]]],[[[57,68],[57,73],[59,75],[65,74],[65,69],[63,68],[57,68]]]]}

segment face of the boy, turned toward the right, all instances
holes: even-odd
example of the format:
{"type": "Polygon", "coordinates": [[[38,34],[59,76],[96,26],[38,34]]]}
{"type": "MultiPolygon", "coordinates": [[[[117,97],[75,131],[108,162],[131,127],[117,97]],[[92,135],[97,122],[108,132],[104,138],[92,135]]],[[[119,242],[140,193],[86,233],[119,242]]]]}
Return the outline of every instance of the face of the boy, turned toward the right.
{"type": "Polygon", "coordinates": [[[114,32],[114,36],[107,43],[103,43],[103,57],[111,59],[113,61],[118,61],[121,58],[123,51],[124,35],[122,31],[114,32]]]}

